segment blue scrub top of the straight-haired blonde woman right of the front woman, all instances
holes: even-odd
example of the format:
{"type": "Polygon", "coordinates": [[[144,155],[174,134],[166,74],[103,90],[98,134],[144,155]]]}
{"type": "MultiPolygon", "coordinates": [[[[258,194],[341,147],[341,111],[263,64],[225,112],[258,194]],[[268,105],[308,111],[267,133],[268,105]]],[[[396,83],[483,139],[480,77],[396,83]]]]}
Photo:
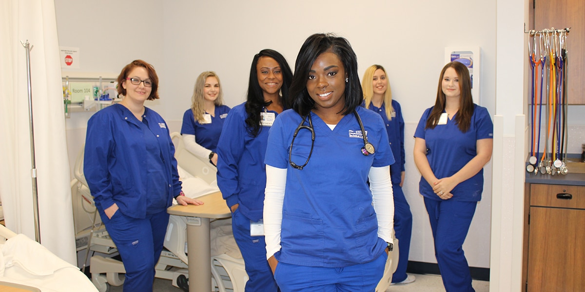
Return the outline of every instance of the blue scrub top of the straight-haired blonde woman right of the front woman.
{"type": "MultiPolygon", "coordinates": [[[[365,103],[362,103],[362,106],[365,106],[365,103]]],[[[384,103],[382,103],[381,107],[376,107],[370,103],[368,109],[380,114],[384,121],[384,125],[386,126],[388,141],[390,142],[390,148],[392,148],[392,153],[394,154],[394,161],[396,161],[393,165],[390,165],[390,176],[392,184],[398,185],[402,180],[401,172],[405,171],[404,119],[402,118],[400,103],[396,100],[392,100],[392,107],[394,108],[394,116],[392,117],[392,120],[388,120],[388,116],[386,115],[386,105],[384,105],[384,103]]]]}

